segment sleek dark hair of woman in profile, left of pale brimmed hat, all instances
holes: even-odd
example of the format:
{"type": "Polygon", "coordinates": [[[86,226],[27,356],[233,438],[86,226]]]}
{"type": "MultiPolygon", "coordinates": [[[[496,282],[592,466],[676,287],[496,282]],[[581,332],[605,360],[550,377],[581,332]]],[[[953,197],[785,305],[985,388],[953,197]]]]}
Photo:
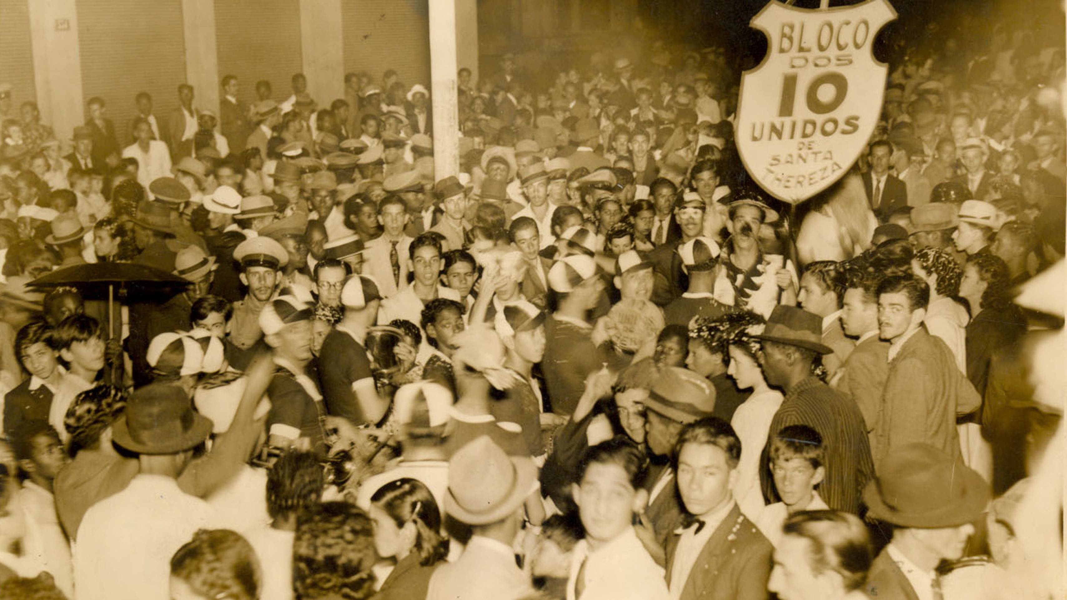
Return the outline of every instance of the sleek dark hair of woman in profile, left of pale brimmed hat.
{"type": "Polygon", "coordinates": [[[378,488],[370,503],[393,519],[397,527],[415,524],[414,552],[424,567],[440,563],[448,554],[448,540],[441,536],[441,510],[433,494],[418,479],[401,477],[378,488]]]}

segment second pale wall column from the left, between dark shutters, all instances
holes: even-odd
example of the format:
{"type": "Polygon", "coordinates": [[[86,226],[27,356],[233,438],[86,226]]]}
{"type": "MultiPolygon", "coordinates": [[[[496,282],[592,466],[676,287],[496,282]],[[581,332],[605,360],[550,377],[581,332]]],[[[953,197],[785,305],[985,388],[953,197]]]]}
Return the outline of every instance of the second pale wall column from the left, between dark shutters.
{"type": "Polygon", "coordinates": [[[186,82],[196,95],[193,107],[219,114],[219,47],[213,0],[181,0],[186,41],[186,82]]]}

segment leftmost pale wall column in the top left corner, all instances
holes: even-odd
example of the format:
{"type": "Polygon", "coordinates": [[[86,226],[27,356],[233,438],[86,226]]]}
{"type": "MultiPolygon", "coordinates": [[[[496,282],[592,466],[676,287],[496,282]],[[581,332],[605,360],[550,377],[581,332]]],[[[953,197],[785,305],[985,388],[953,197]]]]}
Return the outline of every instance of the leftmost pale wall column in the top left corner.
{"type": "Polygon", "coordinates": [[[67,143],[74,128],[85,122],[78,10],[75,0],[31,0],[27,6],[41,120],[67,143]]]}

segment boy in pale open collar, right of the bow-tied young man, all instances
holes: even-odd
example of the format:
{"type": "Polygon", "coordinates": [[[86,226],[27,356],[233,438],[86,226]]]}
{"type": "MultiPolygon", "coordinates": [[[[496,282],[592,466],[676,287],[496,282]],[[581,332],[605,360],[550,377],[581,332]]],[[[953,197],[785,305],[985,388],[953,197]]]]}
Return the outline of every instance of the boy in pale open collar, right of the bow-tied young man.
{"type": "Polygon", "coordinates": [[[826,476],[823,437],[807,425],[782,427],[770,440],[770,475],[781,502],[763,507],[754,521],[770,543],[778,546],[782,523],[800,510],[829,510],[815,488],[826,476]]]}

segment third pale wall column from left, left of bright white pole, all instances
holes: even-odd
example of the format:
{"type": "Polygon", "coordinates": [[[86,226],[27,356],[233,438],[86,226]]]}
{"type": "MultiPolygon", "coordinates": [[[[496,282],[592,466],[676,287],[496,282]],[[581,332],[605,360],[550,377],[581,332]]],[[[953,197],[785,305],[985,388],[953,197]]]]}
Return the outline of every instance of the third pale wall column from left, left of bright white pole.
{"type": "Polygon", "coordinates": [[[307,77],[307,93],[318,108],[330,108],[330,102],[345,97],[340,0],[300,0],[300,56],[307,77]]]}

